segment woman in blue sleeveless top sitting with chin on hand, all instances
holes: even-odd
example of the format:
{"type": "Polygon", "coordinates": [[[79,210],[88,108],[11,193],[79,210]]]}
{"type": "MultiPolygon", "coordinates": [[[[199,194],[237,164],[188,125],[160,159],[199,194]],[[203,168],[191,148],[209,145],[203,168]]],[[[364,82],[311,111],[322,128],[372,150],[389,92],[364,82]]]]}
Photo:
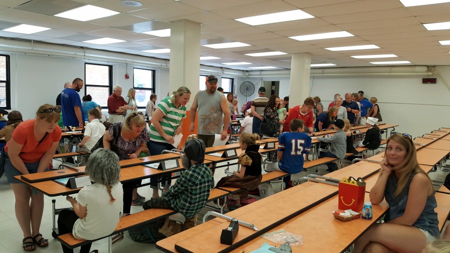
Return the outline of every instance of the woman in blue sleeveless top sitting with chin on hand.
{"type": "Polygon", "coordinates": [[[431,180],[417,162],[412,139],[391,135],[380,164],[370,201],[378,204],[385,198],[390,209],[384,223],[374,224],[356,241],[354,252],[421,252],[439,229],[431,180]]]}

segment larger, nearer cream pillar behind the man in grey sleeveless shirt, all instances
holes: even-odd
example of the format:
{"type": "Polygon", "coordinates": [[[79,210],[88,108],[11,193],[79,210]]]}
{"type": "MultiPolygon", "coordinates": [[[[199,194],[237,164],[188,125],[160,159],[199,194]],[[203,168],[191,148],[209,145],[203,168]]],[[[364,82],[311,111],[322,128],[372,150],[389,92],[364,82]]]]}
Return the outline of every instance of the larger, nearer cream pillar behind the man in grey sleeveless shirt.
{"type": "Polygon", "coordinates": [[[191,100],[186,105],[188,110],[198,91],[199,74],[200,23],[187,19],[170,22],[169,92],[179,86],[188,87],[192,92],[191,100]]]}

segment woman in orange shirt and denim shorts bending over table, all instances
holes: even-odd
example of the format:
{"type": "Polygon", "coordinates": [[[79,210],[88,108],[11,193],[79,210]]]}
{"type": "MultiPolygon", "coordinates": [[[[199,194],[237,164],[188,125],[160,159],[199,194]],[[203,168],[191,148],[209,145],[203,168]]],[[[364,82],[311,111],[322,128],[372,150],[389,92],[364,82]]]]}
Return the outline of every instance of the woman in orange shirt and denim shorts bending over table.
{"type": "Polygon", "coordinates": [[[36,118],[21,122],[4,147],[4,172],[15,197],[15,216],[23,232],[23,249],[48,246],[39,232],[43,194],[17,181],[14,176],[45,171],[61,138],[58,126],[61,106],[41,105],[36,118]],[[30,201],[31,199],[31,201],[30,201]]]}

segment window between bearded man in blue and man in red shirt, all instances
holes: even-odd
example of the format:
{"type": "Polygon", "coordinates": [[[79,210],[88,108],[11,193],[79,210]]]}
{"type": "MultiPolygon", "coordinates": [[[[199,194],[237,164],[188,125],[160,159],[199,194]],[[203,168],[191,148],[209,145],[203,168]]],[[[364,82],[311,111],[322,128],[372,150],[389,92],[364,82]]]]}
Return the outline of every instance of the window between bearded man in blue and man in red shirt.
{"type": "Polygon", "coordinates": [[[90,94],[92,101],[102,108],[107,107],[112,93],[112,66],[101,64],[84,64],[84,94],[90,94]]]}

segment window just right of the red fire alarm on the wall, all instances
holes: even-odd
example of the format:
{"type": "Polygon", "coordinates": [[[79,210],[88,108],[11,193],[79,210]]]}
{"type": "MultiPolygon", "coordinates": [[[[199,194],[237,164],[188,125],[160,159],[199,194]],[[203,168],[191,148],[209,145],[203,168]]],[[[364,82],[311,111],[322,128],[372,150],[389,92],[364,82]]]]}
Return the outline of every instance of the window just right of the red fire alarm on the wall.
{"type": "Polygon", "coordinates": [[[145,108],[150,95],[155,93],[154,75],[154,70],[133,68],[133,87],[136,90],[134,98],[138,108],[145,108]]]}

